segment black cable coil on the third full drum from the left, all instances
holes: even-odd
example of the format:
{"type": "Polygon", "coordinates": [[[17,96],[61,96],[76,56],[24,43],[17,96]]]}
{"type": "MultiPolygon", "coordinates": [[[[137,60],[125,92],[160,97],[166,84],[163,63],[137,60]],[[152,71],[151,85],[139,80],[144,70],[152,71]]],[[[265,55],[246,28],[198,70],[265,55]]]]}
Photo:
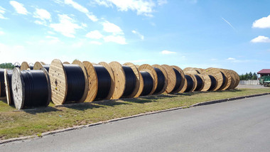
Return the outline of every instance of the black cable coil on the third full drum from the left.
{"type": "Polygon", "coordinates": [[[111,76],[105,67],[102,65],[94,65],[95,71],[97,73],[97,96],[95,100],[105,99],[111,88],[111,76]]]}

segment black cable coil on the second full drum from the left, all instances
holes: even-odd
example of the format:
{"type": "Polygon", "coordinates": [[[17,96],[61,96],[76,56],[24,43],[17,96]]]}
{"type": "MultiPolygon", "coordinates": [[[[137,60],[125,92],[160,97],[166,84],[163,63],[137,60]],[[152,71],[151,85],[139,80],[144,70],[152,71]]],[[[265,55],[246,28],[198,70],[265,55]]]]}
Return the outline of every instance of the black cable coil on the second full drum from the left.
{"type": "Polygon", "coordinates": [[[63,64],[67,75],[68,92],[65,103],[79,101],[85,92],[85,75],[79,65],[63,64]]]}

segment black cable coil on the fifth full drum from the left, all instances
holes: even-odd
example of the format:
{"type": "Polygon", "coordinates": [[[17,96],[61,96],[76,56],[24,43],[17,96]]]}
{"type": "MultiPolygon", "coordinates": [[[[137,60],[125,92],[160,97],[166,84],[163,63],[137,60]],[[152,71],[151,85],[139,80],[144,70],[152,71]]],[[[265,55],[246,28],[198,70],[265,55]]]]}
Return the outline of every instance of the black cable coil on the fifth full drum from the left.
{"type": "Polygon", "coordinates": [[[144,89],[141,92],[141,96],[146,96],[150,94],[153,89],[153,78],[149,72],[140,71],[140,73],[144,80],[144,89]]]}

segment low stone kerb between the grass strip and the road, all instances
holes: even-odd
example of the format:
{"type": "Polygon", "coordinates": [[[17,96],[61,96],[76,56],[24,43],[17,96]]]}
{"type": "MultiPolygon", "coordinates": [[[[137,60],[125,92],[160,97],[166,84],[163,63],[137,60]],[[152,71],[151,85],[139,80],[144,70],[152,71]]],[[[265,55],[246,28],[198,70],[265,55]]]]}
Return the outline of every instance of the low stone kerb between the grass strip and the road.
{"type": "Polygon", "coordinates": [[[13,141],[23,141],[23,140],[27,140],[27,139],[38,139],[41,138],[43,136],[48,136],[51,134],[58,134],[64,131],[71,131],[71,130],[75,130],[75,129],[82,129],[85,127],[89,127],[89,126],[97,126],[97,125],[101,125],[101,124],[107,124],[110,122],[114,122],[114,121],[120,121],[120,120],[124,120],[124,119],[131,119],[131,118],[135,118],[135,117],[139,117],[139,116],[146,116],[148,114],[158,114],[161,112],[170,112],[170,111],[174,111],[174,110],[178,110],[178,109],[185,109],[185,108],[190,108],[190,107],[198,107],[198,106],[204,106],[207,104],[216,104],[216,103],[221,103],[221,102],[229,102],[229,101],[233,101],[233,100],[237,100],[237,99],[245,99],[245,98],[250,98],[250,97],[259,97],[259,96],[263,96],[263,95],[268,95],[270,93],[263,93],[263,94],[252,94],[252,95],[247,95],[247,96],[241,96],[241,97],[232,97],[232,98],[227,98],[227,99],[217,99],[217,100],[212,100],[212,101],[207,101],[207,102],[199,102],[197,104],[193,104],[190,105],[188,107],[175,107],[175,108],[171,108],[171,109],[164,109],[164,110],[159,110],[156,112],[146,112],[146,113],[142,113],[142,114],[136,114],[133,116],[126,116],[126,117],[121,117],[121,118],[117,118],[117,119],[110,119],[107,121],[99,121],[97,123],[94,124],[86,124],[86,125],[80,125],[80,126],[73,126],[67,129],[58,129],[55,131],[48,131],[45,133],[42,133],[41,136],[38,135],[33,135],[33,136],[23,136],[23,137],[18,137],[18,138],[13,138],[13,139],[6,139],[6,140],[0,140],[0,145],[3,143],[9,143],[9,142],[13,142],[13,141]]]}

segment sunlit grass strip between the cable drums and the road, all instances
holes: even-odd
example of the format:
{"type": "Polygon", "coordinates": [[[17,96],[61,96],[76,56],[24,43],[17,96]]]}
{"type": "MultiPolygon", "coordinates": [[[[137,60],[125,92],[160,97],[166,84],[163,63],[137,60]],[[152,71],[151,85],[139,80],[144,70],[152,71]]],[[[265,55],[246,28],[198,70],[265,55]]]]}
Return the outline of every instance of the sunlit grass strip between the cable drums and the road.
{"type": "Polygon", "coordinates": [[[188,107],[198,102],[270,92],[270,89],[234,89],[224,92],[161,94],[158,96],[73,104],[72,106],[16,111],[0,101],[0,139],[37,135],[45,131],[154,112],[174,107],[188,107]]]}

